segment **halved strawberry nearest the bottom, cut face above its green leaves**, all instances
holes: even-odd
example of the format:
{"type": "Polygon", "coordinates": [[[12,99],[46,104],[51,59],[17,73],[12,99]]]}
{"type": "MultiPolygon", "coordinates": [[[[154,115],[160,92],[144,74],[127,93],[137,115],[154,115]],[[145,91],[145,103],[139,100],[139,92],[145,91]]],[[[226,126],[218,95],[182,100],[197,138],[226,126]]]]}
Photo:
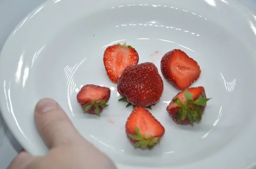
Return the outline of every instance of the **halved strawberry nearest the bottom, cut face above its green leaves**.
{"type": "Polygon", "coordinates": [[[141,149],[152,149],[165,133],[162,124],[143,107],[136,107],[132,111],[126,121],[125,130],[134,147],[141,149]]]}

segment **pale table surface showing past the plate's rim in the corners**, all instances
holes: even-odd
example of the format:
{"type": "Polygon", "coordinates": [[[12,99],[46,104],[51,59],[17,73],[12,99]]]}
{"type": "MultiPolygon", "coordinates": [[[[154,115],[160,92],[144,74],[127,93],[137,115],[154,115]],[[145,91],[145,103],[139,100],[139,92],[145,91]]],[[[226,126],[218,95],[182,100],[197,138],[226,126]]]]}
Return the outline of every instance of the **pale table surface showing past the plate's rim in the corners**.
{"type": "MultiPolygon", "coordinates": [[[[34,8],[46,0],[0,0],[0,50],[15,26],[34,8]]],[[[240,0],[256,10],[256,0],[240,0]]],[[[0,116],[0,169],[6,169],[22,150],[0,116]]]]}

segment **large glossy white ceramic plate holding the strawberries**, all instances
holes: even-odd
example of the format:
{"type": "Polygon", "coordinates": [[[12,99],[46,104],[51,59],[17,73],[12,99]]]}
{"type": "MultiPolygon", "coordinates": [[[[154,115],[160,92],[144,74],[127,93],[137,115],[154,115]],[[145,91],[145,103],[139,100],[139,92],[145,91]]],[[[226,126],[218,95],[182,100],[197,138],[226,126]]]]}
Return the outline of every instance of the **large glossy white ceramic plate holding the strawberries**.
{"type": "MultiPolygon", "coordinates": [[[[44,97],[58,101],[79,132],[120,169],[249,169],[256,164],[256,16],[236,0],[49,0],[12,32],[0,54],[0,107],[7,125],[34,155],[48,149],[33,109],[44,97]],[[192,86],[204,86],[207,109],[194,127],[175,124],[166,107],[178,93],[164,80],[151,113],[166,134],[151,151],[134,149],[125,135],[132,108],[118,102],[102,57],[126,42],[140,63],[180,48],[201,66],[192,86]],[[111,88],[99,118],[76,101],[82,85],[111,88]]],[[[160,71],[160,70],[159,70],[160,71]]]]}

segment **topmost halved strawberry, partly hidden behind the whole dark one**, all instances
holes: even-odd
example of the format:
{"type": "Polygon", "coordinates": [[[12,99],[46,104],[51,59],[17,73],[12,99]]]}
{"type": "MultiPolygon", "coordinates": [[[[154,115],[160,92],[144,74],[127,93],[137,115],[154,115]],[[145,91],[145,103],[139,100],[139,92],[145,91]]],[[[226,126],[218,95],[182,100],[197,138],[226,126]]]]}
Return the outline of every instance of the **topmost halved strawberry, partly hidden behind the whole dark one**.
{"type": "Polygon", "coordinates": [[[137,51],[130,45],[117,44],[109,46],[103,57],[105,69],[109,79],[117,83],[119,77],[127,66],[137,65],[139,62],[139,55],[137,51]]]}

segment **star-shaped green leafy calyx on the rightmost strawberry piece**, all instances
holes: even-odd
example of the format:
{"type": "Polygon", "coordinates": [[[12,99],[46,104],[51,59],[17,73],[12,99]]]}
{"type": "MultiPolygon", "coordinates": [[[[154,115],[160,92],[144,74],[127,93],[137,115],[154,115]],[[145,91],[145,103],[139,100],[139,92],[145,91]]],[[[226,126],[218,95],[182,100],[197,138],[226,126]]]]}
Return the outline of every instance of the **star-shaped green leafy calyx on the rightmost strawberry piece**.
{"type": "Polygon", "coordinates": [[[201,95],[197,100],[193,101],[193,95],[187,89],[184,91],[184,97],[186,99],[185,103],[183,103],[180,98],[172,99],[172,101],[180,107],[177,112],[177,120],[181,122],[188,117],[189,123],[193,126],[194,121],[200,122],[202,119],[202,112],[199,106],[205,107],[207,101],[211,98],[207,99],[204,95],[201,95]]]}

